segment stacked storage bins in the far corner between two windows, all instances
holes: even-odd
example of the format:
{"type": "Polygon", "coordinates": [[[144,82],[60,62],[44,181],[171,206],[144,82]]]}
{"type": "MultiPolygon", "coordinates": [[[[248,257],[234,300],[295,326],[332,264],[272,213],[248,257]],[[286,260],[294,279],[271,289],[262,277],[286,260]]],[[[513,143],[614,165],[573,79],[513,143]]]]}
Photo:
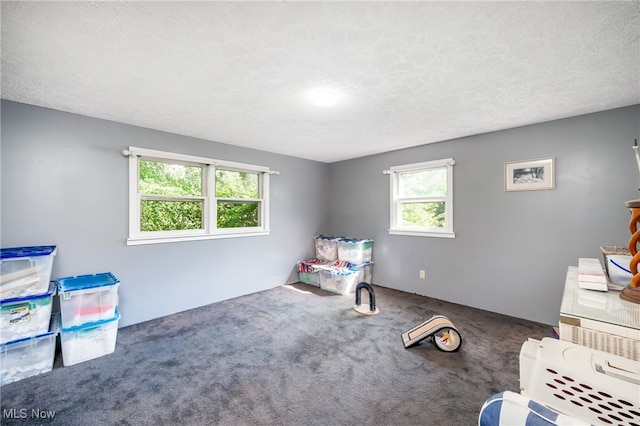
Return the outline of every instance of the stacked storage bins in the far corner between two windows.
{"type": "Polygon", "coordinates": [[[323,290],[351,294],[360,282],[371,284],[373,240],[315,238],[316,259],[298,262],[300,281],[323,290]]]}

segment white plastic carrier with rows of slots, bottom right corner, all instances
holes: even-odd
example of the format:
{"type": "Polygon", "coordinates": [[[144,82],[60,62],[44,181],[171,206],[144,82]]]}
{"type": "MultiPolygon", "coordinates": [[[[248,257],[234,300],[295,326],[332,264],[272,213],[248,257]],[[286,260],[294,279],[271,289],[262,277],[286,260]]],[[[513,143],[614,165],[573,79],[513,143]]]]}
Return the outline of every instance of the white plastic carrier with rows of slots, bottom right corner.
{"type": "Polygon", "coordinates": [[[520,350],[520,392],[597,425],[640,424],[640,364],[545,337],[520,350]]]}

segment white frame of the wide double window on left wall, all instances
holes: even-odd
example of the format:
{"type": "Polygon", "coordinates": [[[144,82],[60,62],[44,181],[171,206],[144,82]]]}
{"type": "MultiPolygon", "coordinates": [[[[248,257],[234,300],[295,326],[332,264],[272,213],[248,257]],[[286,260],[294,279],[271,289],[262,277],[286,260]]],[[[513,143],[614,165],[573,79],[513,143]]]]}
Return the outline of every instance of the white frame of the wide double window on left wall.
{"type": "MultiPolygon", "coordinates": [[[[269,235],[269,168],[253,164],[216,160],[213,158],[197,157],[193,155],[176,154],[146,148],[129,147],[129,237],[127,245],[158,244],[177,241],[208,240],[215,238],[250,237],[269,235]],[[201,166],[203,168],[202,197],[186,197],[188,199],[202,199],[204,202],[203,228],[179,231],[140,231],[140,202],[139,192],[139,164],[140,160],[166,161],[174,164],[201,166]],[[260,198],[242,199],[242,201],[261,203],[259,226],[246,228],[218,229],[217,198],[215,196],[216,169],[258,173],[260,175],[260,198]]],[[[182,197],[185,198],[185,197],[182,197]]],[[[185,199],[186,199],[185,198],[185,199]]]]}

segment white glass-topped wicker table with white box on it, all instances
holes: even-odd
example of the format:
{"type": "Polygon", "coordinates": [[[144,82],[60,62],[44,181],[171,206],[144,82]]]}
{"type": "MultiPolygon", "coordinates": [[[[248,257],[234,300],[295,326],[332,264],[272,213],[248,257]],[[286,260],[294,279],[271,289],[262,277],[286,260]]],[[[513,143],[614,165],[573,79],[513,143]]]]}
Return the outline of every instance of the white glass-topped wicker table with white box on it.
{"type": "Polygon", "coordinates": [[[578,267],[570,266],[560,305],[560,339],[640,361],[640,305],[617,291],[578,286],[578,267]]]}

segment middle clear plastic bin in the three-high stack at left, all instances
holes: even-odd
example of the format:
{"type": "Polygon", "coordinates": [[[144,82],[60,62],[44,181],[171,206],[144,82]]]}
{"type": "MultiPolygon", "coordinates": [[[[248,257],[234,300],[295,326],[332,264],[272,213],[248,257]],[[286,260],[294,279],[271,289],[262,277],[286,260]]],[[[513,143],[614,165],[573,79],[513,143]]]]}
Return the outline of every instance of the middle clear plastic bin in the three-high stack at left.
{"type": "Polygon", "coordinates": [[[0,344],[49,330],[55,283],[43,294],[0,300],[0,344]]]}

